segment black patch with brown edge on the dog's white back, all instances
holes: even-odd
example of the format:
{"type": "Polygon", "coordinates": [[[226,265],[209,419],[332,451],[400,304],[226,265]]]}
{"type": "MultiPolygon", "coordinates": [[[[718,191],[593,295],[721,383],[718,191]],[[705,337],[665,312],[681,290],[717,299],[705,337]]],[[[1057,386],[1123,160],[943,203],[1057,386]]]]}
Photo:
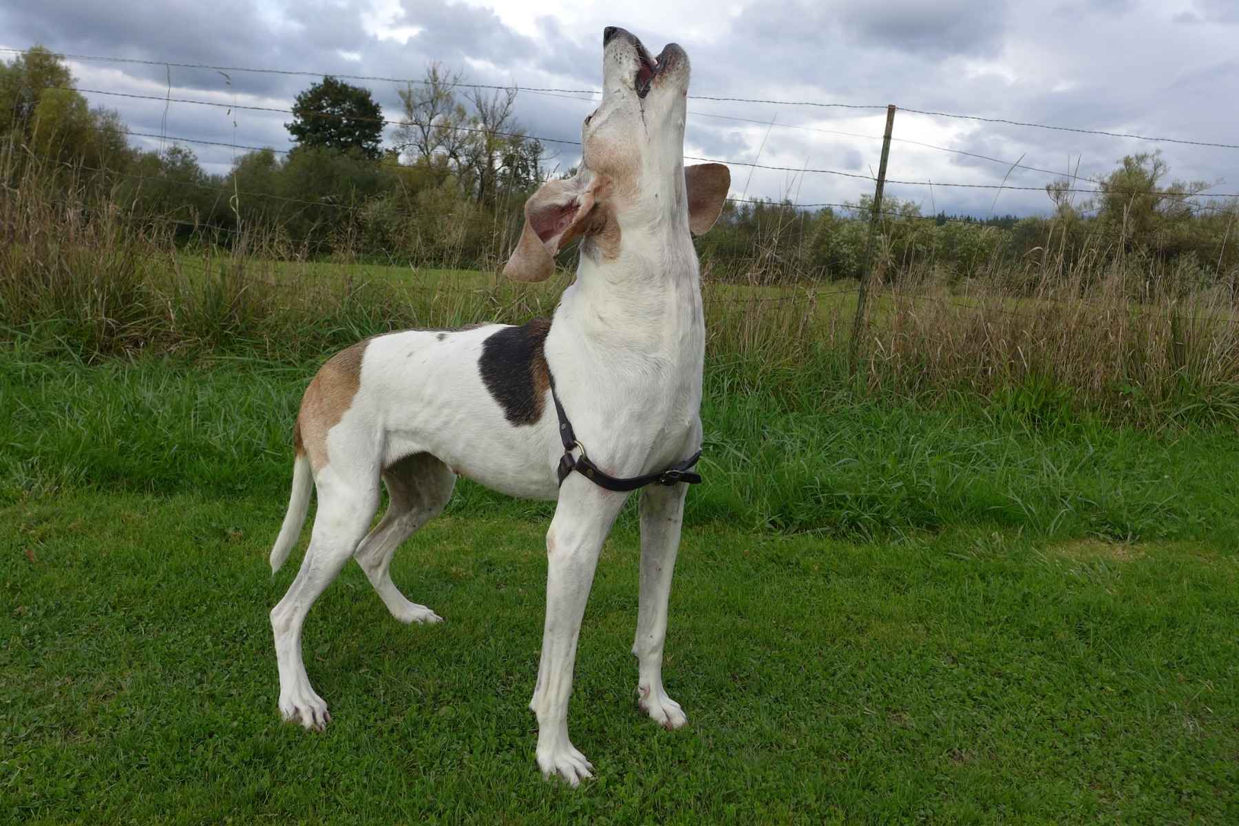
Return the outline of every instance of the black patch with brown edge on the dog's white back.
{"type": "Polygon", "coordinates": [[[550,370],[543,346],[550,318],[534,318],[520,327],[504,327],[482,342],[477,365],[482,381],[513,425],[533,425],[543,414],[550,370]]]}

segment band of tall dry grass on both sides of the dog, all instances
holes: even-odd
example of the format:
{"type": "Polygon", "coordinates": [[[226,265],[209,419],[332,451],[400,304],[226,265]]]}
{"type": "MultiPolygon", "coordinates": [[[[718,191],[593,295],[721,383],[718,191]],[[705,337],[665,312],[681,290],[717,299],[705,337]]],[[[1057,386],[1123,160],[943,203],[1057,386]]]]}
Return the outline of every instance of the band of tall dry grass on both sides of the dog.
{"type": "MultiPolygon", "coordinates": [[[[348,244],[325,263],[306,245],[244,225],[178,248],[171,224],[136,219],[107,182],[79,170],[10,147],[0,152],[0,181],[5,336],[51,337],[88,359],[244,350],[312,360],[388,329],[546,315],[570,277],[514,285],[498,276],[498,258],[482,275],[426,272],[427,264],[450,265],[450,255],[393,261],[404,272],[375,276],[348,244]]],[[[494,227],[496,237],[504,232],[494,227]]],[[[965,281],[932,256],[891,260],[878,244],[852,365],[854,284],[771,284],[776,233],[755,250],[747,282],[704,272],[710,380],[722,393],[792,405],[841,390],[930,400],[965,393],[1032,419],[1087,409],[1136,424],[1239,422],[1233,285],[1123,246],[1099,244],[1068,260],[1054,241],[1051,233],[1021,266],[995,258],[965,281]]]]}

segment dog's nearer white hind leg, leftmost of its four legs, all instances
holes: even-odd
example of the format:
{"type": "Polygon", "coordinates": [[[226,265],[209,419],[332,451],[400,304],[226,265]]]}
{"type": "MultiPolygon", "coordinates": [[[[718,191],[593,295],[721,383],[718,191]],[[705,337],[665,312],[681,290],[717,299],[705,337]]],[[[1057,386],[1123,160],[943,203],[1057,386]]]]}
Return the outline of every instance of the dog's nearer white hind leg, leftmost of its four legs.
{"type": "Polygon", "coordinates": [[[271,609],[275,660],[280,669],[280,713],[286,721],[322,731],[331,716],[306,675],[301,659],[301,627],[318,598],[366,535],[378,508],[378,478],[354,472],[352,478],[327,466],[318,474],[318,513],[310,547],[296,580],[271,609]]]}

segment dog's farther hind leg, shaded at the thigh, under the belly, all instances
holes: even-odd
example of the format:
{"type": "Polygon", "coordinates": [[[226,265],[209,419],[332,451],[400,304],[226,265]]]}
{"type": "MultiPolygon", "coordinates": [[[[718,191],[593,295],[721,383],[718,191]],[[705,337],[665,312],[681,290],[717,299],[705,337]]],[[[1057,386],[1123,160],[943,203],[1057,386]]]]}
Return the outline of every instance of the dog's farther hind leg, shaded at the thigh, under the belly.
{"type": "Polygon", "coordinates": [[[409,602],[392,582],[392,556],[413,531],[442,513],[456,474],[430,453],[414,453],[383,472],[390,504],[383,520],[362,540],[353,556],[366,571],[392,615],[403,623],[440,623],[425,606],[409,602]]]}

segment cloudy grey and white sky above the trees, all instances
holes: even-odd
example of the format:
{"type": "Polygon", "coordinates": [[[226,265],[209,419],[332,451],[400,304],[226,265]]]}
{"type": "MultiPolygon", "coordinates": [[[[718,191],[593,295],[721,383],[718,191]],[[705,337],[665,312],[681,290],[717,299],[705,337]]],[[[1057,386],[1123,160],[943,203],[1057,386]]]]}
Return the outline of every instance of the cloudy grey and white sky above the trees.
{"type": "MultiPolygon", "coordinates": [[[[0,7],[0,47],[42,43],[103,57],[420,78],[430,61],[476,83],[593,89],[602,27],[621,25],[657,52],[679,42],[690,94],[885,105],[1018,121],[1239,144],[1239,1],[1235,0],[722,0],[615,4],[575,0],[40,0],[0,7]]],[[[11,53],[0,53],[11,59],[11,53]]],[[[73,59],[83,89],[287,108],[313,77],[73,59]]],[[[366,82],[398,119],[398,85],[366,82]]],[[[289,115],[89,93],[133,131],[289,146],[289,115]]],[[[575,140],[587,94],[522,92],[520,124],[575,140]]],[[[685,154],[795,170],[876,172],[885,109],[689,102],[685,154]],[[772,125],[773,124],[773,125],[772,125]]],[[[1038,213],[1053,172],[1088,177],[1125,154],[1161,147],[1175,177],[1239,191],[1239,150],[1151,144],[900,111],[888,177],[926,212],[1038,213]],[[923,144],[932,145],[924,146],[923,144]],[[955,152],[943,150],[955,150],[955,152]],[[987,159],[963,155],[971,152],[987,159]],[[997,196],[995,206],[995,196],[997,196]]],[[[159,146],[157,139],[133,139],[159,146]]],[[[548,146],[558,146],[548,144],[548,146]]],[[[230,147],[193,146],[211,171],[230,147]]],[[[558,146],[571,166],[576,147],[558,146]]],[[[864,180],[732,166],[733,196],[798,203],[855,201],[864,180]]],[[[1082,186],[1088,186],[1083,183],[1082,186]]],[[[1078,196],[1080,198],[1085,196],[1078,196]]]]}

